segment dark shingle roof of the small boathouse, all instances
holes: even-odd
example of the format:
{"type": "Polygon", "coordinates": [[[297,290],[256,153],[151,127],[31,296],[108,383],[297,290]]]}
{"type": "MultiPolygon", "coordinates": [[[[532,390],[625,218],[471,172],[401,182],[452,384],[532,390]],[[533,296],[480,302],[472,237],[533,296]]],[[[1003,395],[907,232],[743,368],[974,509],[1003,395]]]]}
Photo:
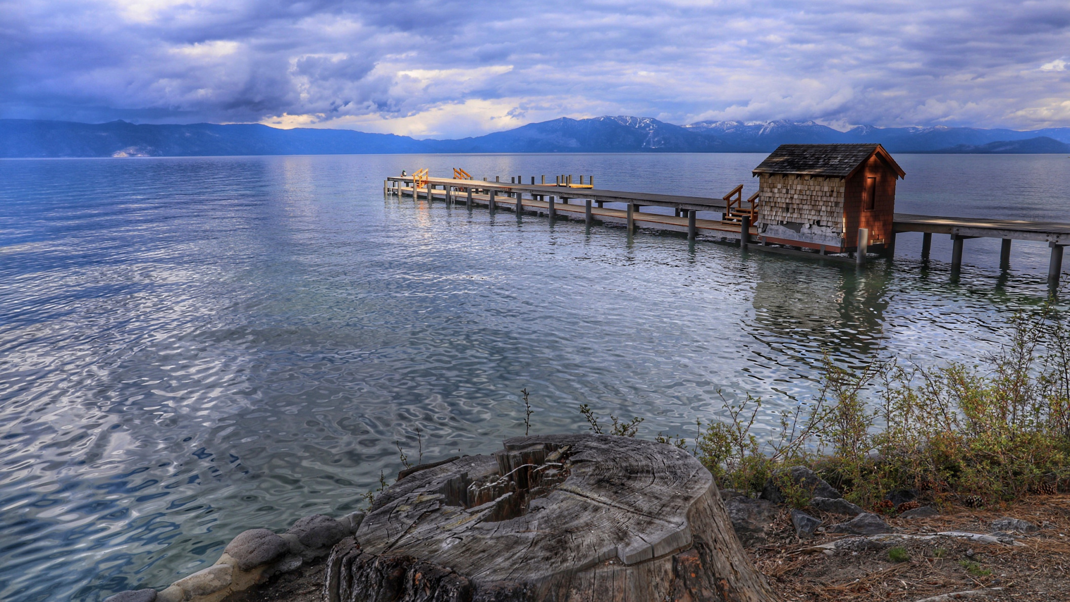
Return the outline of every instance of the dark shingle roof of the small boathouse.
{"type": "Polygon", "coordinates": [[[845,178],[880,152],[900,177],[905,174],[881,145],[780,145],[754,168],[754,174],[807,174],[845,178]]]}

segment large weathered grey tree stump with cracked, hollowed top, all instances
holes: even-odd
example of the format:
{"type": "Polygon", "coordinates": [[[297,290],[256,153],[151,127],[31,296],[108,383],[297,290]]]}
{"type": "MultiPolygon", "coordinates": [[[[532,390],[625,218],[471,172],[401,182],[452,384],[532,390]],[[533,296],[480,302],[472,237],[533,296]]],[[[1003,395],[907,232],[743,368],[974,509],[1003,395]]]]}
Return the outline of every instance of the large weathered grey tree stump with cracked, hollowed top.
{"type": "Polygon", "coordinates": [[[410,473],[327,563],[330,602],[765,602],[709,472],[609,435],[517,437],[410,473]]]}

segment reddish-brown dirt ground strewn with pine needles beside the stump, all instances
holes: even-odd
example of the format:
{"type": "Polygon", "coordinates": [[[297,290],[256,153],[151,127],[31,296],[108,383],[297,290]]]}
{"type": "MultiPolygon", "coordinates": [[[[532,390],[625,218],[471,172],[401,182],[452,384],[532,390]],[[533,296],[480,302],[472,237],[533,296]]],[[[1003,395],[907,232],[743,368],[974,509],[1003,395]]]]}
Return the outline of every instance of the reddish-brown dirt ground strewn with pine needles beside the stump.
{"type": "MultiPolygon", "coordinates": [[[[813,514],[825,524],[844,520],[813,514]]],[[[748,552],[784,602],[916,602],[976,589],[988,590],[987,596],[976,598],[984,601],[1070,602],[1070,495],[1030,497],[1004,508],[951,508],[932,518],[887,522],[900,533],[989,533],[991,523],[1004,516],[1044,528],[1029,536],[1012,533],[1022,546],[941,537],[906,539],[888,547],[829,556],[814,547],[852,536],[819,535],[799,540],[784,511],[774,523],[768,541],[748,552]],[[900,561],[892,560],[892,547],[902,548],[906,559],[900,556],[900,561]]],[[[320,561],[232,596],[227,602],[321,602],[323,571],[324,562],[320,561]]]]}

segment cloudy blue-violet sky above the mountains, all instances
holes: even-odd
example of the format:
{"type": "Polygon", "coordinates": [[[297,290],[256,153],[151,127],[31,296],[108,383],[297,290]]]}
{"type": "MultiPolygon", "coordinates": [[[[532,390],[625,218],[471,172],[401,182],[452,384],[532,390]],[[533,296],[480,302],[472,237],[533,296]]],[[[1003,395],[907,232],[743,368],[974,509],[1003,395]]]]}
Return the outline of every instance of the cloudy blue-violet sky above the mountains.
{"type": "Polygon", "coordinates": [[[1070,126],[1070,2],[0,0],[0,118],[1070,126]]]}

